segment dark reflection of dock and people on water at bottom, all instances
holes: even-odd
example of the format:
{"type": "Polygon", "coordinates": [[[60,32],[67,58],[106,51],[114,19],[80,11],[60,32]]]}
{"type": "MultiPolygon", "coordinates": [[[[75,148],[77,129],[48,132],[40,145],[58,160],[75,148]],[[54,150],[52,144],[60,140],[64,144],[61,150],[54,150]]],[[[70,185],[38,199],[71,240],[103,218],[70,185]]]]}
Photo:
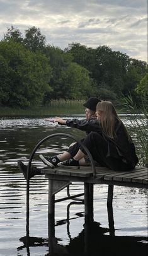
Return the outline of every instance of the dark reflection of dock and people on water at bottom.
{"type": "MultiPolygon", "coordinates": [[[[111,230],[111,228],[114,229],[113,225],[110,228],[102,228],[100,223],[95,221],[91,224],[84,223],[83,230],[72,239],[70,233],[70,206],[72,204],[82,204],[82,202],[71,202],[67,205],[66,221],[67,235],[69,236],[69,243],[67,245],[62,246],[59,244],[60,239],[55,237],[53,222],[49,222],[48,238],[27,236],[20,238],[23,245],[17,248],[17,255],[21,256],[21,251],[25,248],[27,256],[39,255],[36,254],[37,250],[32,250],[35,254],[31,254],[30,251],[32,247],[46,247],[47,253],[45,253],[45,256],[147,255],[147,237],[115,236],[113,230],[111,230]]],[[[112,209],[109,207],[108,212],[110,211],[112,211],[112,209]]],[[[76,218],[79,217],[77,216],[76,218]]],[[[110,218],[113,218],[112,212],[110,213],[110,218]]],[[[113,223],[113,220],[109,221],[113,223]]],[[[63,224],[65,224],[65,222],[63,222],[63,224]]]]}

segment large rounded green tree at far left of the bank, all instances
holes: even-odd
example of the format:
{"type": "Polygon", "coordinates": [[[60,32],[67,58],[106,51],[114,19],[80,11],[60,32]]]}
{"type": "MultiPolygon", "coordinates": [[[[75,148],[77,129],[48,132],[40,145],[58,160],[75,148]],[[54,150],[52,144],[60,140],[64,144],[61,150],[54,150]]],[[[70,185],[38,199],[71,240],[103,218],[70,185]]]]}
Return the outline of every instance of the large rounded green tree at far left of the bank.
{"type": "Polygon", "coordinates": [[[28,107],[50,91],[51,69],[45,55],[15,42],[0,42],[0,102],[8,107],[28,107]]]}

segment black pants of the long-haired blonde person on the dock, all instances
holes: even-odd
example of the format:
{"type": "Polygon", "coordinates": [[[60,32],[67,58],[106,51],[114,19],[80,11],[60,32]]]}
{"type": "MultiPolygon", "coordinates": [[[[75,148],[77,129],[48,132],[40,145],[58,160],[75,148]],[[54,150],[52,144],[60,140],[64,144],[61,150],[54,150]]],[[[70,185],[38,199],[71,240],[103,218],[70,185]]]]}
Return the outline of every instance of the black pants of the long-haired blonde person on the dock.
{"type": "MultiPolygon", "coordinates": [[[[88,148],[93,159],[98,162],[101,166],[106,166],[111,170],[115,171],[127,171],[133,169],[132,163],[126,163],[123,161],[123,157],[117,153],[116,157],[107,156],[108,153],[108,141],[106,141],[97,132],[91,132],[83,140],[83,144],[88,148]]],[[[85,153],[84,149],[80,147],[81,151],[85,153]]],[[[111,144],[111,151],[116,154],[117,149],[114,144],[111,144]]]]}

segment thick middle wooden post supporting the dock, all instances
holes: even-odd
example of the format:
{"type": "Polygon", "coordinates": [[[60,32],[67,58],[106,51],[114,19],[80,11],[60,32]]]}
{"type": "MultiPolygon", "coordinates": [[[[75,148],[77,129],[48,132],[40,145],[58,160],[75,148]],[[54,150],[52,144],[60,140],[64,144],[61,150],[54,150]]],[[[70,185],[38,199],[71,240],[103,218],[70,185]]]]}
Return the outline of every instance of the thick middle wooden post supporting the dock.
{"type": "Polygon", "coordinates": [[[93,222],[93,184],[84,182],[85,223],[93,222]]]}

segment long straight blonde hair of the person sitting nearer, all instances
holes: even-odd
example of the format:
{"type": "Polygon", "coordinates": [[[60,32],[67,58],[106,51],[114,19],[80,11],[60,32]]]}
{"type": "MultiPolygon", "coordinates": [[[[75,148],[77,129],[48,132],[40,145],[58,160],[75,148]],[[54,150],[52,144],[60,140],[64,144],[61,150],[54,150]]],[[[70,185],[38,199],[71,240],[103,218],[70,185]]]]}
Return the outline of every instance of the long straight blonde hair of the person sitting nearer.
{"type": "Polygon", "coordinates": [[[103,131],[107,136],[111,137],[111,139],[114,139],[117,136],[115,131],[115,124],[117,120],[118,124],[120,124],[121,120],[118,117],[113,103],[103,100],[101,102],[98,102],[96,106],[96,112],[98,111],[101,112],[100,123],[103,131]]]}

